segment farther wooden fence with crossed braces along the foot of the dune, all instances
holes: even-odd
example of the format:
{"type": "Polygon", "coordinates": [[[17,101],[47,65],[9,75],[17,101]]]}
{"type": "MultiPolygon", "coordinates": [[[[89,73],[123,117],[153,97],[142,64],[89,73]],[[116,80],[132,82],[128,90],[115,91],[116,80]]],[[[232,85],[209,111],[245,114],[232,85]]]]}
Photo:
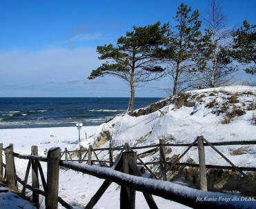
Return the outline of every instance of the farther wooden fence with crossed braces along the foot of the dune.
{"type": "MultiPolygon", "coordinates": [[[[148,172],[150,172],[150,174],[152,175],[152,177],[154,177],[155,179],[161,179],[161,180],[166,180],[168,179],[166,177],[166,173],[168,170],[171,170],[173,168],[173,166],[177,165],[177,166],[189,166],[189,167],[200,167],[200,165],[202,163],[204,163],[204,147],[205,146],[210,146],[211,148],[213,148],[213,150],[215,150],[221,157],[223,157],[226,161],[228,161],[228,163],[230,164],[230,166],[216,166],[216,165],[209,165],[206,164],[205,167],[206,168],[213,168],[213,169],[220,169],[220,170],[237,170],[238,172],[240,172],[242,175],[244,175],[244,173],[242,171],[246,170],[246,171],[256,171],[256,168],[251,168],[251,167],[239,167],[237,168],[237,166],[235,166],[231,161],[229,161],[223,154],[221,154],[221,152],[219,152],[219,150],[217,150],[217,148],[215,148],[215,146],[228,146],[228,145],[233,145],[233,146],[237,146],[237,145],[256,145],[256,141],[228,141],[228,142],[217,142],[217,143],[210,143],[209,141],[207,141],[206,139],[204,139],[204,137],[197,137],[197,139],[195,139],[195,141],[193,143],[165,143],[164,139],[160,139],[159,140],[159,144],[155,144],[155,145],[150,145],[150,146],[139,146],[139,147],[131,147],[128,145],[128,143],[125,144],[125,146],[123,147],[117,147],[117,148],[113,148],[113,146],[110,144],[109,148],[98,148],[98,149],[94,149],[92,148],[92,146],[89,146],[88,150],[70,150],[68,151],[67,148],[65,148],[65,150],[63,152],[61,152],[61,159],[65,160],[65,161],[74,161],[74,162],[87,162],[88,165],[92,165],[92,163],[99,163],[99,166],[108,166],[111,167],[113,165],[113,163],[115,162],[113,159],[113,151],[119,151],[119,155],[121,155],[121,152],[123,152],[124,150],[128,151],[128,150],[141,150],[141,149],[146,149],[146,148],[151,148],[150,150],[147,150],[146,152],[141,152],[138,155],[138,165],[142,165],[145,167],[146,170],[148,170],[148,172]],[[179,158],[175,161],[166,161],[166,148],[168,147],[188,147],[186,149],[186,151],[184,153],[182,153],[179,158]],[[184,157],[184,155],[186,154],[186,152],[188,152],[188,150],[190,150],[190,148],[192,147],[198,147],[199,148],[199,164],[197,163],[179,163],[179,160],[184,157]],[[159,150],[159,161],[148,161],[148,162],[144,162],[142,161],[142,157],[139,157],[141,155],[144,155],[146,153],[149,152],[157,152],[159,150]],[[104,161],[104,160],[99,160],[99,153],[101,153],[102,151],[106,151],[109,153],[109,157],[108,157],[108,161],[104,161]],[[98,153],[97,153],[98,152],[98,153]],[[78,159],[77,159],[77,158],[78,159]],[[93,158],[95,157],[95,158],[93,158]],[[106,164],[107,163],[107,164],[106,164]],[[157,165],[159,164],[159,170],[160,170],[160,176],[157,177],[157,175],[154,174],[154,172],[152,172],[152,170],[150,170],[150,168],[148,168],[148,165],[157,165]],[[169,166],[168,170],[166,170],[166,166],[169,166]]],[[[202,169],[202,168],[201,168],[202,169]]],[[[204,172],[205,173],[205,172],[204,172]]]]}

